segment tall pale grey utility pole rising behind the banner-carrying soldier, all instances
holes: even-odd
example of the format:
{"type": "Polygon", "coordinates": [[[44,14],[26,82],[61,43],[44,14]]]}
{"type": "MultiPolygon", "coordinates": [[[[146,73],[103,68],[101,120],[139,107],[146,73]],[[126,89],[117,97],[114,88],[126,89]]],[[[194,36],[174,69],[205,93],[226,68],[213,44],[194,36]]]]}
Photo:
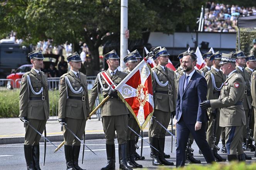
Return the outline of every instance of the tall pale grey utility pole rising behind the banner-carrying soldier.
{"type": "Polygon", "coordinates": [[[128,50],[128,0],[121,0],[121,27],[120,27],[120,67],[123,70],[126,66],[123,58],[128,50]]]}

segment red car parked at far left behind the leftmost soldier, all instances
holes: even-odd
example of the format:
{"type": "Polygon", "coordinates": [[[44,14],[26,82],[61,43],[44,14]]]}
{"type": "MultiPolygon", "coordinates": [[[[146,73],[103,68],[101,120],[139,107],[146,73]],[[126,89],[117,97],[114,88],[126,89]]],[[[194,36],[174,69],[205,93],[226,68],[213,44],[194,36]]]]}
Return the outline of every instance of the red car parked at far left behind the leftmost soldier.
{"type": "MultiPolygon", "coordinates": [[[[29,72],[31,70],[31,68],[33,67],[32,64],[25,64],[20,66],[19,68],[17,68],[17,70],[15,70],[14,73],[10,74],[7,76],[7,79],[12,79],[14,82],[15,80],[19,79],[21,80],[22,75],[25,74],[25,72],[29,72]]],[[[16,81],[16,86],[15,88],[20,88],[20,80],[16,81]]],[[[8,81],[7,82],[7,88],[8,89],[13,89],[13,81],[8,81]]]]}

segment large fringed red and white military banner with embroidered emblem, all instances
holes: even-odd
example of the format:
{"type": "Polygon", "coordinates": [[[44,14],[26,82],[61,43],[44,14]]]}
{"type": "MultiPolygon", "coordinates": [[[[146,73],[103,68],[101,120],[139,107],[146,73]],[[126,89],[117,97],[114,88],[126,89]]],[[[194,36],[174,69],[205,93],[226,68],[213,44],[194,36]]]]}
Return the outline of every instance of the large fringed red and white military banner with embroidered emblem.
{"type": "Polygon", "coordinates": [[[154,111],[151,73],[151,68],[144,59],[115,88],[141,130],[154,111]]]}

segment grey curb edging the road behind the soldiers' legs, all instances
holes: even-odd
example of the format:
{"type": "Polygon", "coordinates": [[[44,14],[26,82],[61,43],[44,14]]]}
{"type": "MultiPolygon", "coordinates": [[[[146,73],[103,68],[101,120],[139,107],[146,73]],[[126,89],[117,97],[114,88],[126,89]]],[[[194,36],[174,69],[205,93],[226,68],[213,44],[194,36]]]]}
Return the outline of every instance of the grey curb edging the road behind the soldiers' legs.
{"type": "MultiPolygon", "coordinates": [[[[173,129],[173,135],[175,135],[175,129],[173,129]]],[[[166,136],[170,136],[170,133],[166,132],[166,136]]],[[[143,132],[143,137],[148,137],[148,132],[143,132]]],[[[86,140],[93,140],[93,139],[104,139],[105,134],[87,134],[85,135],[86,140]]],[[[56,135],[56,136],[48,136],[51,142],[62,142],[64,140],[63,135],[56,135]]],[[[13,143],[24,143],[24,137],[10,137],[10,138],[0,138],[0,145],[2,144],[13,144],[13,143]]],[[[44,138],[41,137],[40,142],[44,142],[44,138]]]]}

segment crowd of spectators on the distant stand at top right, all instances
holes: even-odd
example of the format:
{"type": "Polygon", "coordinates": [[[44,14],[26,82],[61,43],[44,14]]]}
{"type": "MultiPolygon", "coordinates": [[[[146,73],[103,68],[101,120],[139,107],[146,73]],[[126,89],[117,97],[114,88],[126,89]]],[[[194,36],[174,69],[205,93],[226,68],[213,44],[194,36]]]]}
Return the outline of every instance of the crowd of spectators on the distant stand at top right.
{"type": "Polygon", "coordinates": [[[207,2],[204,15],[205,32],[236,32],[237,17],[256,15],[256,7],[239,7],[207,2]]]}

